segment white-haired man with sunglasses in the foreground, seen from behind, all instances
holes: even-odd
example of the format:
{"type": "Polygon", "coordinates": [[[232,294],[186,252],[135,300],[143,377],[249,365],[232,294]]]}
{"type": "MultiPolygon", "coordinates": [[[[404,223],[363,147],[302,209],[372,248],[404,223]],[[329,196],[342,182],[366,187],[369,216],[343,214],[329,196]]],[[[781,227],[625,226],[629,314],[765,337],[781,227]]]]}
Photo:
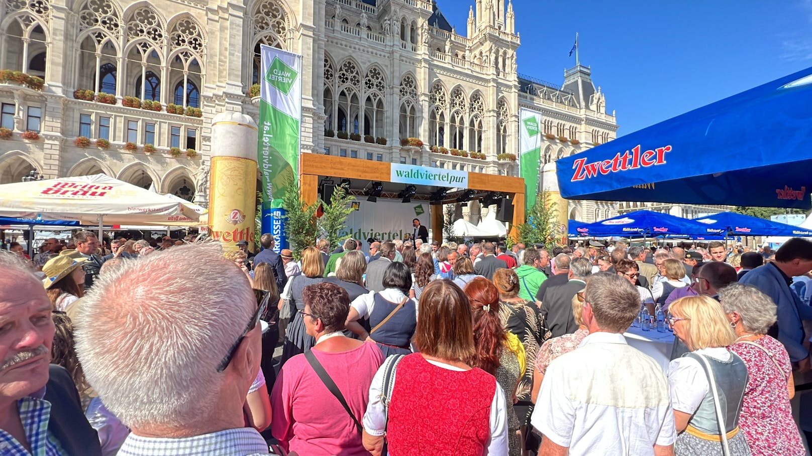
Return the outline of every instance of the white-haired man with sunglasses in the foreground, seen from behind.
{"type": "Polygon", "coordinates": [[[119,455],[268,454],[243,415],[267,303],[257,305],[219,243],[173,247],[99,277],[77,316],[76,351],[107,409],[132,429],[119,455]]]}

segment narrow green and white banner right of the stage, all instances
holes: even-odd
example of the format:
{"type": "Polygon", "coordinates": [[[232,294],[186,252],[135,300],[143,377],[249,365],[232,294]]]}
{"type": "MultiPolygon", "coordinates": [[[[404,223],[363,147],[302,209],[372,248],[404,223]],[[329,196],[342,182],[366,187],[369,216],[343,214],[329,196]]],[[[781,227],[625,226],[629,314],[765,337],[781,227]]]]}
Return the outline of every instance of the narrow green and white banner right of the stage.
{"type": "Polygon", "coordinates": [[[525,208],[536,205],[538,173],[542,161],[542,113],[519,110],[519,170],[525,178],[525,208]]]}

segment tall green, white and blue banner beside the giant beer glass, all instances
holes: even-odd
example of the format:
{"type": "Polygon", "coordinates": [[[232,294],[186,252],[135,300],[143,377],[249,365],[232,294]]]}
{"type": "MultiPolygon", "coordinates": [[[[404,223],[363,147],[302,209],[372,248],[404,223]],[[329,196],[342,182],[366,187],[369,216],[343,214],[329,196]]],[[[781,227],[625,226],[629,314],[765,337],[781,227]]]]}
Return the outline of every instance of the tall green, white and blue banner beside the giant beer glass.
{"type": "Polygon", "coordinates": [[[258,165],[262,175],[262,233],[287,248],[282,198],[298,185],[302,114],[302,56],[261,45],[258,165]]]}

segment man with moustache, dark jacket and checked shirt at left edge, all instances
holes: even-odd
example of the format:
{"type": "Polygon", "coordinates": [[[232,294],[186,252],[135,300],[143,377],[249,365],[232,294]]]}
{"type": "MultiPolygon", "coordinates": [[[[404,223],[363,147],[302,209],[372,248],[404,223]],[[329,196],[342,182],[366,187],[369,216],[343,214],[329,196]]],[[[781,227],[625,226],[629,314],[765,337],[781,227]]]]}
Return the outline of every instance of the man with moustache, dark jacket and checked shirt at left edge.
{"type": "Polygon", "coordinates": [[[11,254],[0,253],[0,270],[0,318],[6,327],[0,338],[0,428],[14,437],[2,439],[0,454],[100,456],[76,385],[64,368],[49,364],[54,321],[42,283],[11,254]]]}

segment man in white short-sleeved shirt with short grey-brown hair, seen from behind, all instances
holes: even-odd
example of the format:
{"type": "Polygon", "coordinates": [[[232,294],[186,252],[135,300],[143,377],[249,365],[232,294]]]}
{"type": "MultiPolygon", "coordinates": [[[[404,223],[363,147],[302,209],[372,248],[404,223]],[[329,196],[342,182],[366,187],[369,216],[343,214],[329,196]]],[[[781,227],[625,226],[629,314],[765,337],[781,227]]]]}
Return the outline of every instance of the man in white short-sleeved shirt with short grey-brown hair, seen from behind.
{"type": "Polygon", "coordinates": [[[544,436],[539,456],[674,454],[665,373],[623,337],[639,308],[637,290],[623,277],[587,280],[581,316],[590,335],[552,361],[530,418],[544,436]]]}

